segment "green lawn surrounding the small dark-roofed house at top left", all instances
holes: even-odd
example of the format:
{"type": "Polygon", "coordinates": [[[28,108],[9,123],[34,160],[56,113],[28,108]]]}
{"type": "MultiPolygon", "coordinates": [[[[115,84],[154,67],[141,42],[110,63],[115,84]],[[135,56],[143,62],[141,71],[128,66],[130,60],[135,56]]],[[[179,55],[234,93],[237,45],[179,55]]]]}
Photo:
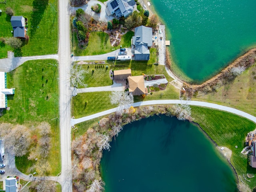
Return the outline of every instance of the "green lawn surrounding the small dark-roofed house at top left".
{"type": "Polygon", "coordinates": [[[10,16],[6,15],[6,7],[14,10],[14,16],[28,18],[28,44],[14,50],[6,44],[0,44],[0,58],[7,57],[11,50],[15,56],[33,56],[56,54],[58,50],[58,0],[24,0],[10,1],[0,4],[0,37],[9,38],[12,35],[10,16]]]}

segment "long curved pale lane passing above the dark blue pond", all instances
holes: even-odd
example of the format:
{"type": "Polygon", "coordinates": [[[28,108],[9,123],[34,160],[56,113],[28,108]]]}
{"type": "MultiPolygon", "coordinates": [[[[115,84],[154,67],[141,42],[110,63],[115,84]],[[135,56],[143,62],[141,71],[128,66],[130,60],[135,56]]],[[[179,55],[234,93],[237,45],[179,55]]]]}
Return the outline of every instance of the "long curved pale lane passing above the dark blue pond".
{"type": "MultiPolygon", "coordinates": [[[[138,106],[156,105],[156,104],[180,104],[180,100],[142,101],[142,102],[136,102],[136,103],[132,104],[132,106],[138,107],[138,106]]],[[[252,116],[252,115],[250,115],[246,112],[242,112],[240,110],[237,110],[237,109],[234,109],[234,108],[231,108],[231,107],[226,107],[226,106],[213,104],[213,103],[207,103],[207,102],[200,102],[200,101],[188,101],[187,104],[227,111],[227,112],[234,113],[234,114],[237,114],[239,116],[248,118],[249,120],[256,123],[256,117],[254,117],[254,116],[252,116]]],[[[104,115],[116,112],[117,110],[118,110],[118,108],[116,107],[116,108],[112,108],[110,110],[106,110],[106,111],[103,111],[103,112],[100,112],[100,113],[92,114],[92,115],[89,115],[89,116],[86,116],[86,117],[82,117],[82,118],[78,118],[78,119],[71,119],[71,125],[78,124],[78,123],[81,123],[81,122],[84,122],[84,121],[87,121],[87,120],[91,120],[91,119],[94,119],[96,117],[104,116],[104,115]]]]}

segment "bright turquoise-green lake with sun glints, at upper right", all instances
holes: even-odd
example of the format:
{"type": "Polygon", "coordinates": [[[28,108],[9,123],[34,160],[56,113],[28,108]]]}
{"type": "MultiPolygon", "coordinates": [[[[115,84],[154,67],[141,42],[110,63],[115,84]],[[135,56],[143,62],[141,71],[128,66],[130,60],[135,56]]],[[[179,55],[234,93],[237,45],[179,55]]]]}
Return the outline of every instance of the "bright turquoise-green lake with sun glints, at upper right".
{"type": "Polygon", "coordinates": [[[151,0],[175,65],[195,82],[256,47],[255,0],[151,0]]]}

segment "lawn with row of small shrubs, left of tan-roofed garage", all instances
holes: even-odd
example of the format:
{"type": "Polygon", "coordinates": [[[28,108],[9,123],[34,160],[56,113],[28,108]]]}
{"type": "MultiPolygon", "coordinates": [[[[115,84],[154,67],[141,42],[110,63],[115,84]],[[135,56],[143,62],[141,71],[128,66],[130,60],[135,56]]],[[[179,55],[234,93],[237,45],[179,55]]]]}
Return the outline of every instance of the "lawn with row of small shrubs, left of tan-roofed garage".
{"type": "Polygon", "coordinates": [[[86,78],[84,79],[84,83],[86,83],[88,87],[109,86],[113,84],[113,81],[109,76],[109,65],[108,69],[106,69],[106,64],[104,64],[104,67],[99,67],[102,66],[102,64],[84,64],[81,66],[83,69],[88,70],[89,72],[86,74],[86,78]],[[94,70],[94,72],[92,70],[94,70]]]}

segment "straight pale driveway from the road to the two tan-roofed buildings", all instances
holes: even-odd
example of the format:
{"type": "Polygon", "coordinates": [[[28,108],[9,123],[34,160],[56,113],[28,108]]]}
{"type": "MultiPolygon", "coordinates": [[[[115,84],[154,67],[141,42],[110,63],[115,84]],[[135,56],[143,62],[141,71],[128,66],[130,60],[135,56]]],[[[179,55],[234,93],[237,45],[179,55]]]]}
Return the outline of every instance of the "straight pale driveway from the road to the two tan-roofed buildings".
{"type": "Polygon", "coordinates": [[[78,93],[88,93],[88,92],[99,92],[99,91],[124,91],[125,86],[122,86],[121,83],[114,82],[110,86],[102,86],[102,87],[88,87],[76,89],[78,93]]]}

